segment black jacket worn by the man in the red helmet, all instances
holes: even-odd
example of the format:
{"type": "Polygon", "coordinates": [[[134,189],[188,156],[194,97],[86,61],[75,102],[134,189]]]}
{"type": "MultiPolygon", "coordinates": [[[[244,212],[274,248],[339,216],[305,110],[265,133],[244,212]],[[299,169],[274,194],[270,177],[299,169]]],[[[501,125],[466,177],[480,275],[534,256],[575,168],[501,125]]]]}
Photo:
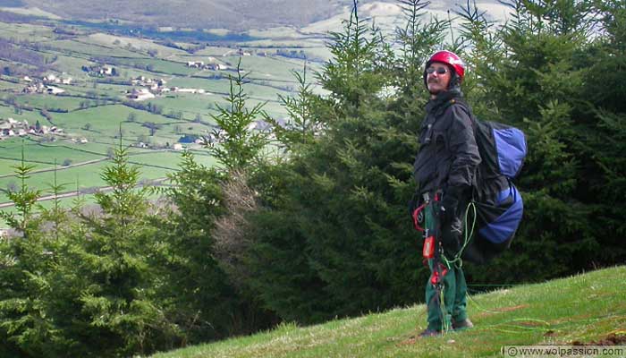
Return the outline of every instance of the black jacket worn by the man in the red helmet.
{"type": "Polygon", "coordinates": [[[413,176],[419,192],[475,183],[480,154],[467,107],[454,103],[461,91],[448,90],[431,99],[419,130],[419,150],[413,176]]]}

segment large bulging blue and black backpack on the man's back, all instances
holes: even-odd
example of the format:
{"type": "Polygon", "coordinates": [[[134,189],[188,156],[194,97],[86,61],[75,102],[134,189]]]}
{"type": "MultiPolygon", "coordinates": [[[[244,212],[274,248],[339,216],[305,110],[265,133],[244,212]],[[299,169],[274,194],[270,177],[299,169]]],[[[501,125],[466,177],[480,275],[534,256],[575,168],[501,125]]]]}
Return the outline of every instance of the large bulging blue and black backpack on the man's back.
{"type": "Polygon", "coordinates": [[[510,125],[478,120],[465,103],[456,103],[472,119],[482,158],[472,198],[478,232],[464,256],[483,262],[507,249],[520,226],[524,204],[512,179],[520,174],[526,158],[526,137],[510,125]]]}

